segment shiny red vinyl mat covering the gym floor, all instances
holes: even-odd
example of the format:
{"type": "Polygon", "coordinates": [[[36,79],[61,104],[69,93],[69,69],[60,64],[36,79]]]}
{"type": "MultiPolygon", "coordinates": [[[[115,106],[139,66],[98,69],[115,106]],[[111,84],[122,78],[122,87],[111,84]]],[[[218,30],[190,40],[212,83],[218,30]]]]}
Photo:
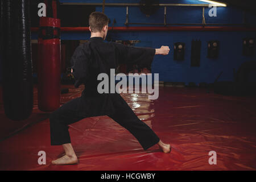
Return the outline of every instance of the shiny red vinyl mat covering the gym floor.
{"type": "MultiPolygon", "coordinates": [[[[69,93],[61,95],[62,103],[82,91],[63,87],[69,93]]],[[[79,164],[71,166],[51,164],[63,155],[63,148],[50,145],[49,114],[38,110],[36,88],[34,97],[33,113],[22,122],[7,119],[1,103],[1,170],[256,169],[255,97],[167,87],[159,88],[155,101],[148,100],[147,94],[122,94],[138,117],[171,144],[171,153],[164,154],[157,146],[143,151],[133,135],[106,116],[85,118],[69,127],[79,157],[79,164]],[[39,151],[46,152],[46,165],[38,164],[39,151]],[[209,151],[216,151],[216,165],[209,164],[209,151]]]]}

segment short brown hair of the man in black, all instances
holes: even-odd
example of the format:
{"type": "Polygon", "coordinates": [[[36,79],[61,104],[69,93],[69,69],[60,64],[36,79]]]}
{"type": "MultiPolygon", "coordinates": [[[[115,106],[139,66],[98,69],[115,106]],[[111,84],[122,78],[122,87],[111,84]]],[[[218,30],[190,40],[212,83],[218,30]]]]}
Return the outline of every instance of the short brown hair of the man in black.
{"type": "Polygon", "coordinates": [[[102,28],[108,23],[109,18],[104,13],[94,11],[89,16],[89,25],[92,32],[101,32],[102,28]]]}

